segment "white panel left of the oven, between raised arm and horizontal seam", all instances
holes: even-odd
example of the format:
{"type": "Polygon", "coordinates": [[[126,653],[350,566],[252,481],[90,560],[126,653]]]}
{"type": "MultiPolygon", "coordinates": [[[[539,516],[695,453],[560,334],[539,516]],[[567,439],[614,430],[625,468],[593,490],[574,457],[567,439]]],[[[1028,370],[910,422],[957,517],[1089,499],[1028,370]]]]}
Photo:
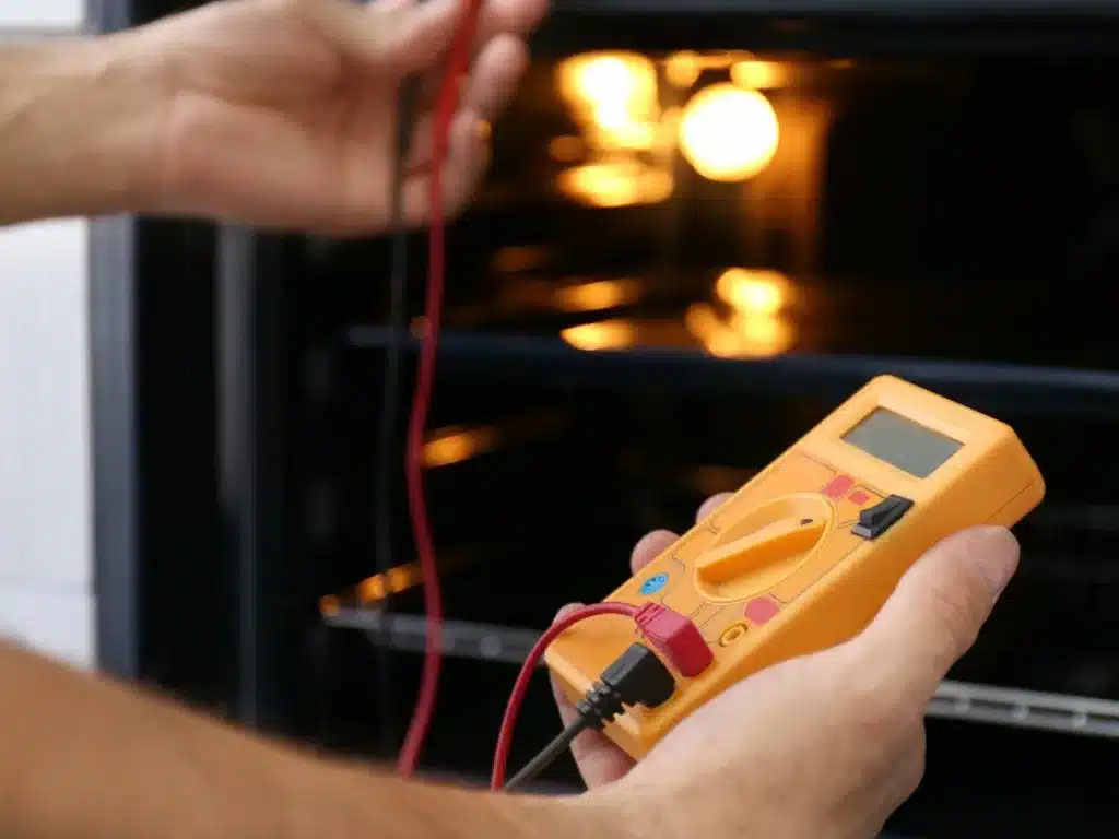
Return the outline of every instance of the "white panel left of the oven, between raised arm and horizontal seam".
{"type": "Polygon", "coordinates": [[[0,583],[92,587],[86,226],[0,229],[0,583]]]}

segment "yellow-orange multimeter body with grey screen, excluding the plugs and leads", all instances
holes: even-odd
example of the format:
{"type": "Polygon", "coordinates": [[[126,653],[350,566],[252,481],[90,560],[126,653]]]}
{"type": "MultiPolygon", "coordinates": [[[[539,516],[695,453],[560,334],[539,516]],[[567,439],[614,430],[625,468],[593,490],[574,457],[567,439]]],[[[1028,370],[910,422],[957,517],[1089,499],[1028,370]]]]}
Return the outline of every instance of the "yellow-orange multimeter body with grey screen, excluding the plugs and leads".
{"type": "MultiPolygon", "coordinates": [[[[941,539],[1009,527],[1045,483],[1014,431],[892,376],[867,384],[606,600],[688,615],[714,652],[657,709],[606,734],[642,757],[680,719],[769,666],[864,629],[941,539]]],[[[633,643],[632,621],[586,621],[546,662],[577,700],[633,643]]]]}

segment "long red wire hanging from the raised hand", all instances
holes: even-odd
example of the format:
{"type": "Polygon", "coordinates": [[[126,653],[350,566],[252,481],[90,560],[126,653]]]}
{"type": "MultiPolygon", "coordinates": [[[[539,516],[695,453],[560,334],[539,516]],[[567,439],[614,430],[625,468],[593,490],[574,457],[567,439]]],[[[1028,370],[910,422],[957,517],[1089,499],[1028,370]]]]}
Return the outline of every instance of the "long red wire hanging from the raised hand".
{"type": "Polygon", "coordinates": [[[412,723],[404,738],[397,762],[397,772],[404,776],[415,773],[420,753],[431,726],[439,692],[439,671],[443,649],[443,603],[439,586],[439,567],[427,517],[427,502],[423,486],[423,446],[431,407],[431,392],[435,379],[435,352],[439,346],[439,322],[443,305],[445,273],[445,230],[443,221],[443,161],[451,132],[451,122],[459,106],[459,83],[464,76],[473,48],[474,31],[481,0],[466,0],[467,9],[451,46],[451,56],[440,87],[432,128],[432,161],[429,182],[429,256],[427,300],[423,342],[420,350],[420,369],[412,400],[408,422],[405,477],[407,481],[408,511],[412,530],[423,571],[424,612],[427,634],[424,650],[423,673],[412,723]]]}

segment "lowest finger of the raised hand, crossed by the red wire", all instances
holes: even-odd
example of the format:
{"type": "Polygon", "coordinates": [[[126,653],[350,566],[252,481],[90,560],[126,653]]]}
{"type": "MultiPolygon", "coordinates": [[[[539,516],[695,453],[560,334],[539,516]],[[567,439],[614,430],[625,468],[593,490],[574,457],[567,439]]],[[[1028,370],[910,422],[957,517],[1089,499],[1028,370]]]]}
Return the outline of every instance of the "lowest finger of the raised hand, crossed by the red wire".
{"type": "MultiPolygon", "coordinates": [[[[473,194],[489,164],[488,128],[478,114],[463,111],[451,125],[450,148],[441,167],[444,220],[453,218],[473,194]]],[[[407,224],[417,226],[431,218],[430,175],[413,175],[404,183],[407,224]]]]}

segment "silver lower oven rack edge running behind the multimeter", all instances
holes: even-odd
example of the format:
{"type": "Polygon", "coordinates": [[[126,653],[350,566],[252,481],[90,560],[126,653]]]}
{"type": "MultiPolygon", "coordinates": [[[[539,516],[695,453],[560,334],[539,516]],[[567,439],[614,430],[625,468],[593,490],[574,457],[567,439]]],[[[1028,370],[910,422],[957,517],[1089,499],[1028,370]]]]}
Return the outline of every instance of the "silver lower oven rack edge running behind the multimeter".
{"type": "MultiPolygon", "coordinates": [[[[333,628],[366,634],[376,647],[423,652],[426,619],[367,609],[344,609],[323,619],[333,628]]],[[[474,661],[520,664],[539,633],[469,621],[443,624],[443,654],[474,661]]],[[[944,680],[927,715],[941,719],[1002,725],[1119,739],[1119,701],[944,680]]]]}

